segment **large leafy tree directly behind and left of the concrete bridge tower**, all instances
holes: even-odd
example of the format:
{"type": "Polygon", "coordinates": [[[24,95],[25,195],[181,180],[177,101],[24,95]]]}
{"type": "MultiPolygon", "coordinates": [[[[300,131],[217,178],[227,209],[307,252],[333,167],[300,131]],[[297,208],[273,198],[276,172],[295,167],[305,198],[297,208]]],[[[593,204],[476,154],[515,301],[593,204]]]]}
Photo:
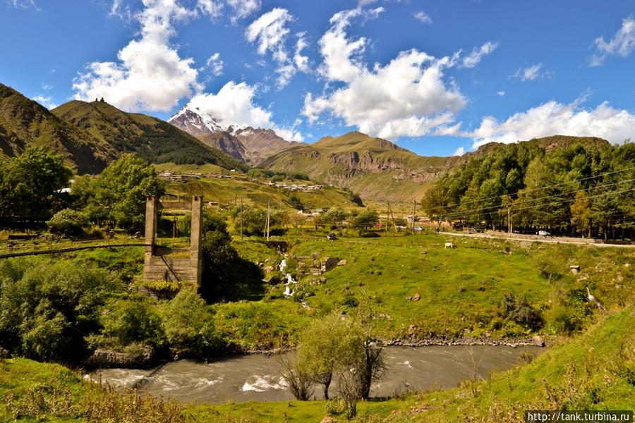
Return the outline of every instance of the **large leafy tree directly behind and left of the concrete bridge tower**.
{"type": "Polygon", "coordinates": [[[123,154],[92,181],[94,194],[87,204],[93,221],[110,221],[128,230],[141,229],[147,196],[160,196],[165,183],[155,168],[134,154],[123,154]]]}

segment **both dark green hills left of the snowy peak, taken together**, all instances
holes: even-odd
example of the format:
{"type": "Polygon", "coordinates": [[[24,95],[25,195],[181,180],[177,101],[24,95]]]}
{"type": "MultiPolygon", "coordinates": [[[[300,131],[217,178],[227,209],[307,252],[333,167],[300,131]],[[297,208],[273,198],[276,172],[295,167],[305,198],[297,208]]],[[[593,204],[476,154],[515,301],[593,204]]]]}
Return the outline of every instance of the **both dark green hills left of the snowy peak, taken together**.
{"type": "Polygon", "coordinates": [[[14,157],[45,145],[65,157],[78,173],[99,173],[122,153],[151,163],[246,166],[169,123],[126,113],[104,101],[73,100],[51,111],[0,84],[0,152],[14,157]]]}

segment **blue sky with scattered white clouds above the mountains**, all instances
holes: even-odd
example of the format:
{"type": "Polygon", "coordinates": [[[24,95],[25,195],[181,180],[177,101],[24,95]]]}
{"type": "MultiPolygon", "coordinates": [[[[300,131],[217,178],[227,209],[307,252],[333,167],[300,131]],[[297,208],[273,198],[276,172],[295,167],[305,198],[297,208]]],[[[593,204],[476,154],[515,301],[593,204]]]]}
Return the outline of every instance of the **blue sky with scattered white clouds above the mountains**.
{"type": "Polygon", "coordinates": [[[632,1],[0,0],[0,82],[423,155],[635,135],[632,1]],[[3,4],[4,3],[4,4],[3,4]]]}

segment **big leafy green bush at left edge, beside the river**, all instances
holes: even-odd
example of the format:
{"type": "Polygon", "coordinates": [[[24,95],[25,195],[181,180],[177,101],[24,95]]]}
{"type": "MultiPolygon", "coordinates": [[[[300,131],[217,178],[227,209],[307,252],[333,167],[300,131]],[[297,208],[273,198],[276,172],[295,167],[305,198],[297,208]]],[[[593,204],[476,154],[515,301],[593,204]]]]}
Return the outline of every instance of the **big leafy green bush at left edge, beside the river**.
{"type": "Polygon", "coordinates": [[[0,262],[0,346],[39,360],[72,361],[97,329],[106,271],[69,260],[0,262]]]}

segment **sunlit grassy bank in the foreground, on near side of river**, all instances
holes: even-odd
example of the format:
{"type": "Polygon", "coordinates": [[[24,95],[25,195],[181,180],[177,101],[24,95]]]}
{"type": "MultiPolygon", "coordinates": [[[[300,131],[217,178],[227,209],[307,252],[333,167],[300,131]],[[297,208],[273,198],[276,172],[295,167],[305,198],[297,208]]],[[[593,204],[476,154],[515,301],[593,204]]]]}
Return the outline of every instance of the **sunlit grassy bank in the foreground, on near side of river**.
{"type": "MultiPolygon", "coordinates": [[[[630,410],[635,399],[635,311],[632,307],[600,319],[587,333],[563,340],[530,364],[494,374],[488,381],[444,391],[358,405],[361,421],[521,422],[522,410],[630,410]],[[476,396],[475,393],[476,392],[476,396]],[[548,395],[549,392],[549,395],[548,395]]],[[[25,359],[0,361],[0,418],[10,419],[7,398],[24,400],[35,386],[62,384],[77,403],[87,382],[57,364],[25,359]]],[[[319,422],[325,401],[193,405],[186,414],[198,422],[319,422]]],[[[335,416],[345,421],[344,413],[335,416]]],[[[22,421],[34,421],[24,419],[22,421]]],[[[44,422],[80,421],[46,413],[44,422]]]]}

